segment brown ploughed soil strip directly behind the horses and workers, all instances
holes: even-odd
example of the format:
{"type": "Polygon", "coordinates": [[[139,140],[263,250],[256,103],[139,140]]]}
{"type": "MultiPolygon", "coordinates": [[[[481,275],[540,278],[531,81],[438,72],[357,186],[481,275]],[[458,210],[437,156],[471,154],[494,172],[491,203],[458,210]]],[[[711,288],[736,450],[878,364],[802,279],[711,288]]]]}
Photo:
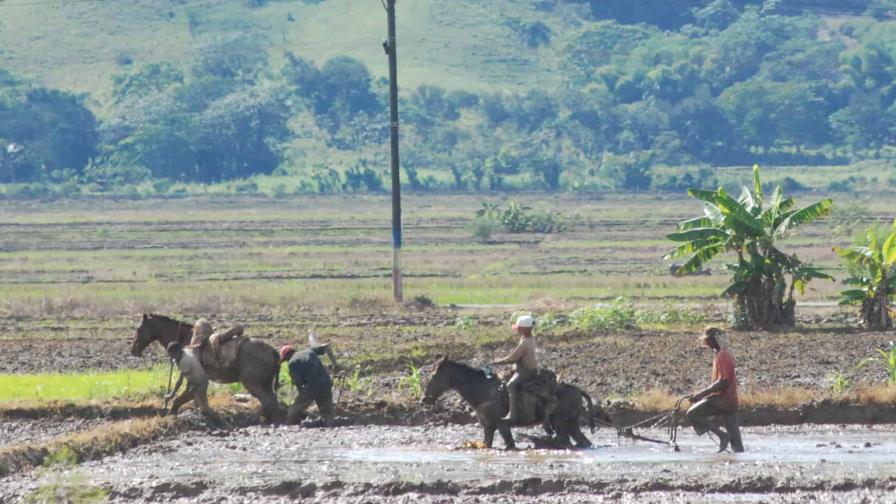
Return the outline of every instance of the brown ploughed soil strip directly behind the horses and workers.
{"type": "MultiPolygon", "coordinates": [[[[471,364],[484,364],[513,347],[513,337],[498,325],[500,316],[484,317],[476,333],[445,328],[456,313],[381,316],[376,323],[321,332],[333,343],[344,362],[364,369],[373,380],[369,393],[388,398],[390,386],[407,372],[408,362],[424,365],[440,355],[471,364]],[[363,345],[363,347],[361,346],[363,345]],[[359,351],[360,349],[364,351],[359,351]]],[[[47,370],[46,349],[54,352],[55,371],[148,368],[164,362],[161,347],[153,344],[143,357],[129,355],[131,334],[123,329],[118,339],[9,339],[0,340],[0,373],[47,370]]],[[[693,330],[625,331],[609,334],[546,333],[539,338],[539,359],[562,379],[584,387],[594,397],[619,397],[651,389],[686,393],[703,384],[711,355],[701,349],[693,330]]],[[[303,335],[264,335],[278,347],[301,341],[303,335]]],[[[892,334],[858,332],[845,328],[801,330],[787,333],[735,332],[731,335],[738,361],[741,390],[768,388],[827,388],[835,370],[849,372],[856,385],[879,382],[875,367],[855,365],[885,346],[892,334]],[[774,355],[774,359],[769,356],[774,355]]],[[[366,393],[366,392],[365,392],[366,393]]]]}

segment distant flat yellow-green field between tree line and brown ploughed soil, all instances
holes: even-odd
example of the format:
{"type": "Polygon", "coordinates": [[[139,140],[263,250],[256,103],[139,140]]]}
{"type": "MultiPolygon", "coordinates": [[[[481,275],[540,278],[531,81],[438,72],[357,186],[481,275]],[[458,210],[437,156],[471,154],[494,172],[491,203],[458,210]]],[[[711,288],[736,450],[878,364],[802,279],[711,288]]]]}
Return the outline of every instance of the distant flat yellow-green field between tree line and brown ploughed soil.
{"type": "MultiPolygon", "coordinates": [[[[694,303],[717,300],[724,288],[721,264],[712,276],[673,278],[661,258],[664,235],[700,211],[684,196],[518,195],[575,214],[578,224],[477,242],[468,226],[480,202],[508,198],[406,197],[407,297],[440,305],[584,305],[618,296],[694,303]]],[[[876,212],[887,203],[864,204],[876,212]]],[[[5,203],[2,211],[6,316],[364,311],[390,299],[387,196],[5,203]]],[[[800,229],[787,248],[838,274],[830,247],[849,237],[827,227],[800,229]]],[[[817,282],[804,299],[830,301],[837,289],[817,282]]]]}

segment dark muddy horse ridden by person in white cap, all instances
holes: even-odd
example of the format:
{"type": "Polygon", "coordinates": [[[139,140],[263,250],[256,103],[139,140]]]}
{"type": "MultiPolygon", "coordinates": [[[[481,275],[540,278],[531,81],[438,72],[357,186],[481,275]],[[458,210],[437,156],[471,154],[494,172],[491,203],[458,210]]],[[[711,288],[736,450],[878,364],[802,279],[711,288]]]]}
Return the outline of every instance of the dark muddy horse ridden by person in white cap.
{"type": "MultiPolygon", "coordinates": [[[[435,368],[421,402],[433,404],[447,390],[456,390],[476,410],[476,418],[485,433],[485,445],[492,447],[497,430],[504,439],[504,445],[513,448],[515,445],[510,422],[503,419],[509,411],[510,403],[501,380],[481,369],[444,357],[435,364],[435,368]]],[[[591,441],[582,433],[579,423],[583,419],[588,420],[591,432],[594,432],[595,411],[591,397],[582,389],[567,383],[558,383],[556,394],[557,407],[549,419],[550,427],[556,433],[554,443],[563,447],[571,446],[571,436],[577,447],[590,447],[591,441]]],[[[547,426],[545,430],[549,435],[553,434],[547,426]]]]}

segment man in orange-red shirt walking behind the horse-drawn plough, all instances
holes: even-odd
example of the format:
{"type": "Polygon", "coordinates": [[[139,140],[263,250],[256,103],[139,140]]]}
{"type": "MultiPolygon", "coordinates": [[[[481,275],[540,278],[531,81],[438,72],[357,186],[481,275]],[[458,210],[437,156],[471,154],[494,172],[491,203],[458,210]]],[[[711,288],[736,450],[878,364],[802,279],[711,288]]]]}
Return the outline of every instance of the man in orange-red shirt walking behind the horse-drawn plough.
{"type": "Polygon", "coordinates": [[[687,417],[694,426],[698,436],[712,431],[719,437],[719,452],[728,448],[735,452],[744,451],[740,437],[740,420],[737,414],[737,378],[734,374],[734,357],[728,350],[728,338],[718,327],[707,327],[700,338],[703,345],[715,352],[712,364],[712,383],[705,389],[687,396],[693,406],[688,409],[687,417]],[[725,430],[710,420],[721,416],[725,430]]]}

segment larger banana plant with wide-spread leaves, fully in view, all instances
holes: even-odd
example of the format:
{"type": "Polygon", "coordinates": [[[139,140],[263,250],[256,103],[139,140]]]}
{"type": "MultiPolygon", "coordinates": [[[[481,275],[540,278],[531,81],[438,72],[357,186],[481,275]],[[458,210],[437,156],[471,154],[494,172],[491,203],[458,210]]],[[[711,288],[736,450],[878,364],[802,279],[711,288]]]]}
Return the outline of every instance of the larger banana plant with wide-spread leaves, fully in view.
{"type": "Polygon", "coordinates": [[[794,293],[802,294],[810,280],[833,280],[777,246],[795,227],[830,213],[830,199],[796,208],[794,199],[785,198],[780,186],[766,199],[758,166],[753,167],[753,188],[743,187],[737,199],[723,188],[691,189],[688,194],[703,202],[703,216],[678,224],[678,231],[667,237],[679,245],[664,258],[687,257],[675,272],[680,276],[700,270],[726,252],[734,253],[736,262],[726,265],[732,282],[722,295],[734,300],[735,325],[792,326],[794,293]]]}

